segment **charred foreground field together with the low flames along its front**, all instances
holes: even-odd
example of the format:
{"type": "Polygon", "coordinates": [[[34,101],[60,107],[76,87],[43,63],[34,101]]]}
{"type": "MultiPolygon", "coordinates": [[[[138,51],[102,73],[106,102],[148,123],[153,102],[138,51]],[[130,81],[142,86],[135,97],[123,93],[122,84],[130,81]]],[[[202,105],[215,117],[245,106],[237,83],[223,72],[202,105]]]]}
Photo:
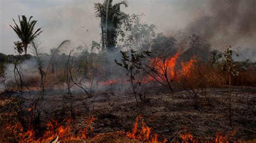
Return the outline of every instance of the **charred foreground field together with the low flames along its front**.
{"type": "MultiPolygon", "coordinates": [[[[58,137],[60,141],[167,141],[167,142],[227,142],[255,139],[255,98],[253,89],[233,89],[233,122],[234,128],[228,126],[227,97],[225,89],[210,89],[213,106],[203,104],[204,96],[199,95],[200,108],[193,108],[186,92],[170,93],[156,88],[149,91],[151,101],[141,103],[147,124],[142,117],[137,116],[136,101],[132,95],[122,94],[103,95],[84,98],[83,95],[66,98],[62,94],[46,95],[44,101],[38,104],[46,109],[26,108],[33,98],[32,95],[22,95],[23,109],[27,113],[38,110],[41,112],[39,124],[35,126],[29,122],[30,127],[25,131],[17,119],[18,112],[14,104],[17,98],[2,97],[1,103],[1,140],[2,141],[49,141],[58,137]],[[243,101],[241,103],[241,101],[243,101]],[[62,103],[73,102],[73,111],[62,108],[62,103]],[[45,104],[46,103],[46,104],[45,104]],[[59,103],[56,105],[56,103],[59,103]],[[247,103],[246,106],[244,103],[247,103]],[[93,105],[92,105],[93,104],[93,105]],[[86,112],[84,109],[88,107],[86,112]],[[49,118],[53,114],[48,110],[54,109],[54,115],[59,118],[49,118]],[[64,112],[65,113],[62,113],[64,112]],[[45,112],[49,112],[45,114],[45,112]],[[75,112],[75,113],[74,113],[75,112]],[[87,117],[87,119],[85,119],[87,117]],[[6,120],[7,119],[7,120],[6,120]],[[45,121],[49,120],[49,121],[45,121]],[[184,128],[186,127],[186,130],[184,128]],[[9,131],[9,132],[7,132],[9,131]]],[[[29,117],[29,116],[28,116],[29,117]]]]}

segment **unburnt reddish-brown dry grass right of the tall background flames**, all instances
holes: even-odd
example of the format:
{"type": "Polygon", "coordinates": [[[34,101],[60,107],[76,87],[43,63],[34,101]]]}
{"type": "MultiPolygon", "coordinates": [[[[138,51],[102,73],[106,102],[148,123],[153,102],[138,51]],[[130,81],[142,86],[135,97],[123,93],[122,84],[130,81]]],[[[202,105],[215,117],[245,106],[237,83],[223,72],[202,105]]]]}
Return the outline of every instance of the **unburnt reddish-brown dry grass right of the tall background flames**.
{"type": "MultiPolygon", "coordinates": [[[[220,65],[207,65],[198,63],[193,69],[189,78],[180,81],[186,83],[185,86],[193,88],[210,88],[223,87],[228,85],[228,74],[221,70],[220,65]]],[[[247,69],[239,68],[239,75],[232,76],[231,84],[233,86],[256,87],[256,68],[248,67],[247,69]]],[[[181,84],[183,86],[184,84],[181,84]]]]}

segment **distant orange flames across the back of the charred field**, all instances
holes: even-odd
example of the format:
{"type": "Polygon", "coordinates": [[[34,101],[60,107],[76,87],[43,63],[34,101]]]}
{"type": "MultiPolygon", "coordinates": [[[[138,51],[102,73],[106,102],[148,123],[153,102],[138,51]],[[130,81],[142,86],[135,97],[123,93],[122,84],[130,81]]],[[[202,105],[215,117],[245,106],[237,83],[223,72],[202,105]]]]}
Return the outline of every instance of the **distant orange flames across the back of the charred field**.
{"type": "MultiPolygon", "coordinates": [[[[139,83],[149,83],[152,81],[163,81],[166,77],[169,82],[174,80],[180,80],[181,78],[189,78],[191,72],[194,69],[194,65],[197,62],[196,56],[192,56],[188,62],[178,63],[181,52],[177,52],[170,58],[151,58],[150,67],[157,74],[147,75],[139,80],[139,83]],[[179,68],[180,67],[180,68],[179,68]],[[152,77],[154,76],[154,77],[152,77]]],[[[119,77],[109,81],[99,82],[99,85],[113,85],[113,84],[129,84],[130,82],[125,80],[124,77],[119,77]]]]}

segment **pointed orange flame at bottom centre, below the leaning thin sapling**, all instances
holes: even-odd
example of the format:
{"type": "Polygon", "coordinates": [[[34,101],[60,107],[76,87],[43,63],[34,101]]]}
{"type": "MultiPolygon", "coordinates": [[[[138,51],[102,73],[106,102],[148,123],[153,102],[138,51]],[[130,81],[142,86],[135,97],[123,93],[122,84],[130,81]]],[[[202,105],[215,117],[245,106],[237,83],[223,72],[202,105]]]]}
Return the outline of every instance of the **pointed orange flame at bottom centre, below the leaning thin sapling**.
{"type": "Polygon", "coordinates": [[[136,121],[133,125],[132,132],[126,133],[126,136],[131,139],[138,139],[142,141],[158,142],[158,134],[152,133],[151,128],[146,125],[142,120],[141,116],[136,118],[136,121]],[[141,120],[141,128],[138,128],[139,119],[141,120]]]}

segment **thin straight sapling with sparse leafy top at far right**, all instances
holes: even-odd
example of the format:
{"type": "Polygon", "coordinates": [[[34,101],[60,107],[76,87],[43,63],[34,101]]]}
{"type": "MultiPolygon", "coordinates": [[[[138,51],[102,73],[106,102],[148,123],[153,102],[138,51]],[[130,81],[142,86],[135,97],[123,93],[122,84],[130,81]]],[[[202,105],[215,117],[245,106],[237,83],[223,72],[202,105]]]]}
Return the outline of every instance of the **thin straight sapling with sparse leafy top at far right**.
{"type": "MultiPolygon", "coordinates": [[[[230,120],[230,126],[232,125],[231,122],[231,75],[233,76],[238,76],[239,72],[237,69],[237,65],[234,63],[234,59],[232,57],[233,55],[233,51],[230,50],[231,46],[227,46],[225,52],[223,53],[224,55],[224,59],[223,59],[223,63],[222,63],[222,69],[224,71],[228,71],[228,107],[229,107],[229,120],[230,120]]],[[[237,52],[235,52],[235,55],[239,56],[237,52]]]]}

